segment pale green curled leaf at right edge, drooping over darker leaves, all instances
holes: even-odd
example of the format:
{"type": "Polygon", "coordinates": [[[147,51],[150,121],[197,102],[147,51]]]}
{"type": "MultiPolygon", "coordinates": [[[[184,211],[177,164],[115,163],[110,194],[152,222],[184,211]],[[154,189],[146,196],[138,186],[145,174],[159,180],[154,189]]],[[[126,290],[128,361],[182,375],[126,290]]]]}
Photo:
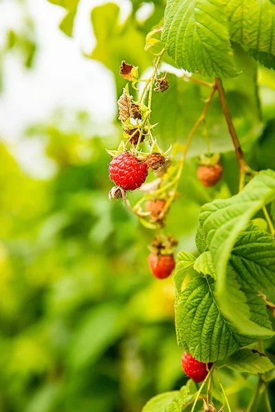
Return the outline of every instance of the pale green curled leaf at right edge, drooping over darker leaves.
{"type": "MultiPolygon", "coordinates": [[[[274,258],[271,256],[270,260],[270,255],[273,253],[270,250],[274,250],[274,241],[260,229],[262,242],[257,242],[255,239],[259,233],[256,235],[254,229],[247,229],[247,233],[244,232],[239,240],[237,238],[248,226],[250,218],[256,211],[259,211],[265,203],[270,203],[273,198],[275,198],[275,172],[262,171],[236,196],[204,205],[199,217],[217,271],[217,294],[221,308],[228,313],[229,319],[234,321],[243,333],[266,335],[268,331],[259,327],[259,323],[256,325],[248,319],[243,311],[241,313],[238,310],[238,306],[232,307],[230,299],[232,299],[234,283],[236,290],[240,288],[239,282],[246,288],[248,286],[256,288],[256,282],[262,286],[274,285],[272,279],[274,258]],[[232,251],[235,242],[236,250],[232,251]],[[254,259],[250,255],[251,250],[254,253],[256,251],[254,259]],[[230,266],[228,266],[229,260],[230,266]],[[242,270],[245,270],[245,273],[240,273],[242,270]],[[257,280],[252,280],[251,274],[254,270],[260,270],[263,279],[259,279],[259,275],[256,274],[257,280]],[[228,282],[231,285],[229,289],[228,282]]],[[[244,301],[242,303],[245,305],[244,301]]]]}

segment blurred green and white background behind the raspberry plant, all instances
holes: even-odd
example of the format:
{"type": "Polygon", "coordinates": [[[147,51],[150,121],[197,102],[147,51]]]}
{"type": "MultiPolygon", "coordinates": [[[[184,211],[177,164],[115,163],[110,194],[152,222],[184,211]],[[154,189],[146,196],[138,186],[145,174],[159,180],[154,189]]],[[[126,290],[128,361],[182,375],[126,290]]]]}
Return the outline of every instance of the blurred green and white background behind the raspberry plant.
{"type": "MultiPolygon", "coordinates": [[[[140,412],[186,382],[173,279],[153,279],[153,232],[109,202],[104,150],[122,136],[120,62],[150,71],[144,38],[165,1],[80,0],[77,13],[76,3],[0,1],[1,412],[140,412]]],[[[264,126],[248,156],[275,168],[274,72],[259,82],[264,126]]],[[[196,253],[200,206],[236,192],[232,152],[223,164],[223,183],[207,190],[188,161],[167,220],[178,251],[196,253]]],[[[256,378],[221,376],[246,404],[256,378]]]]}

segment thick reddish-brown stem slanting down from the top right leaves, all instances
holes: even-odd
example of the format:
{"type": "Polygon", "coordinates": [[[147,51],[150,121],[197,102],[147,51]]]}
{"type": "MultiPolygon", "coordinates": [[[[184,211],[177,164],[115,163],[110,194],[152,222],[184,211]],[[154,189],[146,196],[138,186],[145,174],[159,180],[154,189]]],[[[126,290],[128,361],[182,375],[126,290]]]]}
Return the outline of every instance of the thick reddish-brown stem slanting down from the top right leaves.
{"type": "Polygon", "coordinates": [[[225,120],[228,124],[228,130],[232,138],[232,142],[234,144],[235,152],[236,152],[236,158],[238,159],[239,163],[239,168],[240,168],[240,179],[239,179],[239,192],[243,189],[243,186],[245,185],[245,174],[247,172],[251,172],[251,169],[245,162],[245,158],[243,155],[243,150],[241,148],[241,143],[239,141],[239,137],[236,134],[236,130],[234,128],[234,124],[232,122],[232,118],[230,115],[230,111],[228,108],[228,102],[226,101],[225,98],[225,91],[223,88],[223,82],[221,78],[215,78],[215,85],[217,87],[217,91],[219,93],[219,100],[221,100],[221,107],[223,109],[223,114],[225,116],[225,120]]]}

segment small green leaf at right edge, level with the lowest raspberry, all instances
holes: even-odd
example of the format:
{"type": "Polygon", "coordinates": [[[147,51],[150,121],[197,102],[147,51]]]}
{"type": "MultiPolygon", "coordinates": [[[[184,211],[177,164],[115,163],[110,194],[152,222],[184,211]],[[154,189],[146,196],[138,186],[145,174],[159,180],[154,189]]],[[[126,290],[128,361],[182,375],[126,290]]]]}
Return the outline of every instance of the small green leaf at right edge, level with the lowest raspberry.
{"type": "Polygon", "coordinates": [[[267,356],[252,352],[250,349],[238,350],[226,358],[225,366],[235,371],[248,372],[248,374],[264,374],[274,368],[267,356]]]}

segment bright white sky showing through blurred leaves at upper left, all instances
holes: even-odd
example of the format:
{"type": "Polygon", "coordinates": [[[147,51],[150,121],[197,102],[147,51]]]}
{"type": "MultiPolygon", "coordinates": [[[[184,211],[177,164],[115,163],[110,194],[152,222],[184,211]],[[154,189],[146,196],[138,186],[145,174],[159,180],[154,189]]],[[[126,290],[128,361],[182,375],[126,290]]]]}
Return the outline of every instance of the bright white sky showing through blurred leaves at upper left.
{"type": "MultiPolygon", "coordinates": [[[[76,108],[91,113],[100,124],[115,116],[115,85],[108,69],[83,57],[95,45],[90,12],[107,1],[81,0],[74,38],[59,30],[65,10],[47,0],[28,0],[36,26],[39,53],[32,70],[26,70],[17,56],[4,62],[4,90],[0,94],[0,136],[10,146],[23,168],[38,176],[47,176],[50,163],[43,159],[39,141],[22,139],[30,124],[47,119],[56,107],[76,108]]],[[[129,0],[117,0],[121,19],[131,10],[129,0]]],[[[0,45],[8,28],[20,27],[22,14],[14,0],[0,3],[0,45]]]]}

